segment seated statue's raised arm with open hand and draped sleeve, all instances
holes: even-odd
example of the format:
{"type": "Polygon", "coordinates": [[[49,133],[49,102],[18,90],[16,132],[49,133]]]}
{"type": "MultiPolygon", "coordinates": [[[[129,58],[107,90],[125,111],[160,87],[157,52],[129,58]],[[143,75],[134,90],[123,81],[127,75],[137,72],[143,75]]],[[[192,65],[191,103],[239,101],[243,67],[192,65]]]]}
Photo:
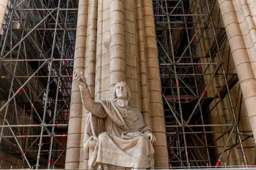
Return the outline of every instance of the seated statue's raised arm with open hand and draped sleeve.
{"type": "Polygon", "coordinates": [[[91,98],[86,79],[84,78],[84,74],[81,72],[81,74],[79,75],[77,74],[77,72],[74,71],[74,77],[79,83],[84,108],[86,108],[87,111],[97,117],[105,118],[107,114],[102,105],[99,102],[94,102],[91,98]]]}

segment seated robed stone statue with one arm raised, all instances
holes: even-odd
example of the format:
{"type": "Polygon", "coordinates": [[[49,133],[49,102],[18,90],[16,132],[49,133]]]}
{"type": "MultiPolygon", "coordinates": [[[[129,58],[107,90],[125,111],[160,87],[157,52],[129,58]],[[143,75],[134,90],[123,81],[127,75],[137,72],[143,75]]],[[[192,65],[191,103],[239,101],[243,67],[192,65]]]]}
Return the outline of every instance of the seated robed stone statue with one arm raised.
{"type": "Polygon", "coordinates": [[[152,144],[156,139],[151,127],[145,125],[139,108],[131,105],[128,85],[117,82],[112,101],[94,102],[82,72],[74,73],[83,105],[90,112],[85,124],[84,150],[88,149],[90,140],[96,140],[88,166],[93,169],[153,167],[152,144]]]}

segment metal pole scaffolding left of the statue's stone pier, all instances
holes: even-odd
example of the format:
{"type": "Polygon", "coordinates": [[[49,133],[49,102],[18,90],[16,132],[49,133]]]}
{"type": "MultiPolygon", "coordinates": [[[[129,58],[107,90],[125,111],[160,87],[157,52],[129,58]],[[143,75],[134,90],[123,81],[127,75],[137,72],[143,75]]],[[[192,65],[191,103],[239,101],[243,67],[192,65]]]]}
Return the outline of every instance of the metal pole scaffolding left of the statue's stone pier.
{"type": "Polygon", "coordinates": [[[78,2],[9,0],[0,40],[0,169],[64,168],[78,2]]]}

